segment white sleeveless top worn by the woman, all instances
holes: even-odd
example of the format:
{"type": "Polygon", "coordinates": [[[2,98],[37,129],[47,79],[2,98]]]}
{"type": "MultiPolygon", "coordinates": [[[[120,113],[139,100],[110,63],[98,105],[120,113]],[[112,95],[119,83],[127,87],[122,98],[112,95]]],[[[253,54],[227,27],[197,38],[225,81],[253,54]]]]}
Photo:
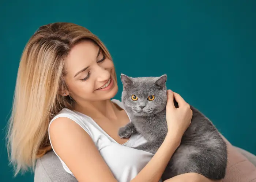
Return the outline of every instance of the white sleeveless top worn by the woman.
{"type": "MultiPolygon", "coordinates": [[[[119,107],[124,109],[123,104],[119,100],[112,99],[112,102],[116,103],[119,107]]],[[[67,108],[64,108],[59,112],[59,114],[54,116],[54,118],[50,121],[49,126],[54,119],[59,117],[66,117],[73,120],[90,135],[90,137],[93,139],[93,142],[95,143],[95,146],[98,148],[99,153],[105,160],[106,164],[109,166],[118,182],[131,181],[153,157],[153,154],[149,152],[131,148],[146,142],[146,139],[143,138],[142,135],[133,134],[127,142],[121,145],[117,143],[112,137],[110,137],[101,127],[99,127],[99,125],[92,118],[67,108]]],[[[50,132],[48,133],[50,139],[50,132]]],[[[52,145],[51,140],[50,143],[52,145]]],[[[54,151],[53,146],[52,149],[54,151]]],[[[54,153],[56,154],[55,151],[54,153]]],[[[59,159],[63,165],[64,170],[67,171],[67,173],[73,175],[60,157],[59,159]]],[[[162,182],[162,180],[159,182],[162,182]]]]}

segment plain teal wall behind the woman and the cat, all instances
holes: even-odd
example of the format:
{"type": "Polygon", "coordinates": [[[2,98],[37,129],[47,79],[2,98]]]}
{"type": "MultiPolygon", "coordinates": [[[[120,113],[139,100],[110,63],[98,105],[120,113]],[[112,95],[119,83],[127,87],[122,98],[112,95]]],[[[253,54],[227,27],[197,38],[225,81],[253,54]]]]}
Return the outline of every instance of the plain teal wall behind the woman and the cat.
{"type": "MultiPolygon", "coordinates": [[[[117,75],[160,76],[233,145],[256,154],[256,1],[111,0],[0,2],[0,181],[13,178],[5,148],[19,59],[41,25],[82,25],[105,43],[117,75]]],[[[121,95],[121,81],[118,80],[121,95]]]]}

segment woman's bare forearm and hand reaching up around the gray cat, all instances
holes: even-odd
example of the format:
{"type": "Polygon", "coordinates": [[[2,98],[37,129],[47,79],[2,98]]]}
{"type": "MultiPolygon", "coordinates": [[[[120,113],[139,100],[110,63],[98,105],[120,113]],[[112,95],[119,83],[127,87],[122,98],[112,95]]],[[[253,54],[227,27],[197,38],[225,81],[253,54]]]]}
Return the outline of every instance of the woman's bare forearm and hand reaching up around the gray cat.
{"type": "MultiPolygon", "coordinates": [[[[166,169],[170,158],[180,145],[182,135],[191,123],[192,111],[190,106],[175,92],[167,91],[166,120],[168,124],[167,135],[161,146],[147,163],[147,165],[132,179],[132,182],[159,181],[166,169]],[[179,108],[175,108],[173,98],[178,102],[179,108]]],[[[174,177],[175,178],[175,177],[174,177]]],[[[180,180],[179,182],[181,182],[180,180]]]]}

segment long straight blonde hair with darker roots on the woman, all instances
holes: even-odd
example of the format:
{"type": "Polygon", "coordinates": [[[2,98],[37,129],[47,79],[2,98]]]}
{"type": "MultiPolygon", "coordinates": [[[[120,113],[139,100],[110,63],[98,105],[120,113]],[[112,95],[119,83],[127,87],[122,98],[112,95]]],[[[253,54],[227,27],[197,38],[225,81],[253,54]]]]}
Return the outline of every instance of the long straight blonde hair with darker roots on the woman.
{"type": "MultiPolygon", "coordinates": [[[[51,23],[39,27],[23,51],[16,80],[11,118],[8,122],[7,149],[15,176],[35,167],[36,159],[51,150],[48,124],[72,99],[60,95],[68,89],[65,58],[72,46],[93,40],[107,58],[104,44],[88,29],[73,23],[51,23]]],[[[112,60],[112,59],[111,59],[112,60]]]]}

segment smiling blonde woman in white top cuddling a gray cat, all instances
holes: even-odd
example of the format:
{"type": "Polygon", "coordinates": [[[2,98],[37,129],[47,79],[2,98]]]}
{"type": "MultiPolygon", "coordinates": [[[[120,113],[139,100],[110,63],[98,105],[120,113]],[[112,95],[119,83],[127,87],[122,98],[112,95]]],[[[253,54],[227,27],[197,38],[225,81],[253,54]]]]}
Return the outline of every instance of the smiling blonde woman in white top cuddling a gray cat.
{"type": "MultiPolygon", "coordinates": [[[[103,43],[84,27],[52,23],[38,29],[23,52],[8,132],[16,173],[35,165],[53,149],[64,169],[78,181],[156,182],[180,144],[192,111],[168,91],[168,134],[157,153],[132,149],[142,136],[120,139],[130,122],[117,93],[117,76],[103,43]],[[173,105],[173,97],[179,108],[173,105]]],[[[188,173],[166,180],[210,179],[188,173]]]]}

